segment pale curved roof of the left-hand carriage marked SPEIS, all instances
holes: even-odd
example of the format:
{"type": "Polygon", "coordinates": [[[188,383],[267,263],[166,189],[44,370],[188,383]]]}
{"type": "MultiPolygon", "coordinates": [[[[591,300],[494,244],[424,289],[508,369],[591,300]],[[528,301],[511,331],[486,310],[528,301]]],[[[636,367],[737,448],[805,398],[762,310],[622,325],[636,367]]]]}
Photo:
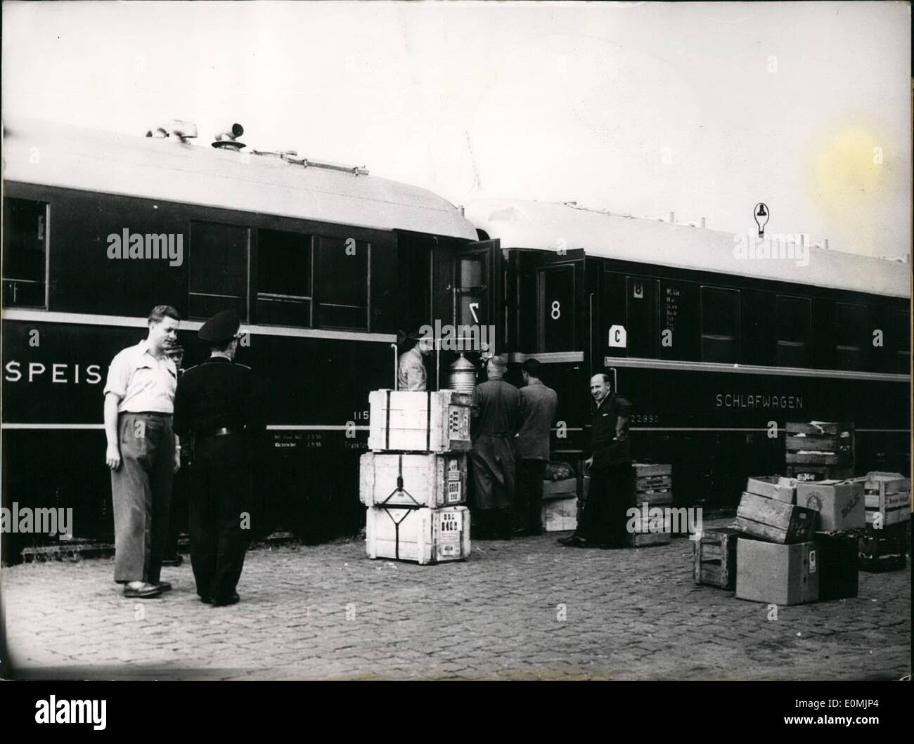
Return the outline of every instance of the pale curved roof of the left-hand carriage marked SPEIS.
{"type": "Polygon", "coordinates": [[[4,135],[8,181],[476,238],[473,225],[441,196],[372,175],[46,121],[14,122],[4,135]],[[30,162],[34,147],[37,162],[30,162]]]}

